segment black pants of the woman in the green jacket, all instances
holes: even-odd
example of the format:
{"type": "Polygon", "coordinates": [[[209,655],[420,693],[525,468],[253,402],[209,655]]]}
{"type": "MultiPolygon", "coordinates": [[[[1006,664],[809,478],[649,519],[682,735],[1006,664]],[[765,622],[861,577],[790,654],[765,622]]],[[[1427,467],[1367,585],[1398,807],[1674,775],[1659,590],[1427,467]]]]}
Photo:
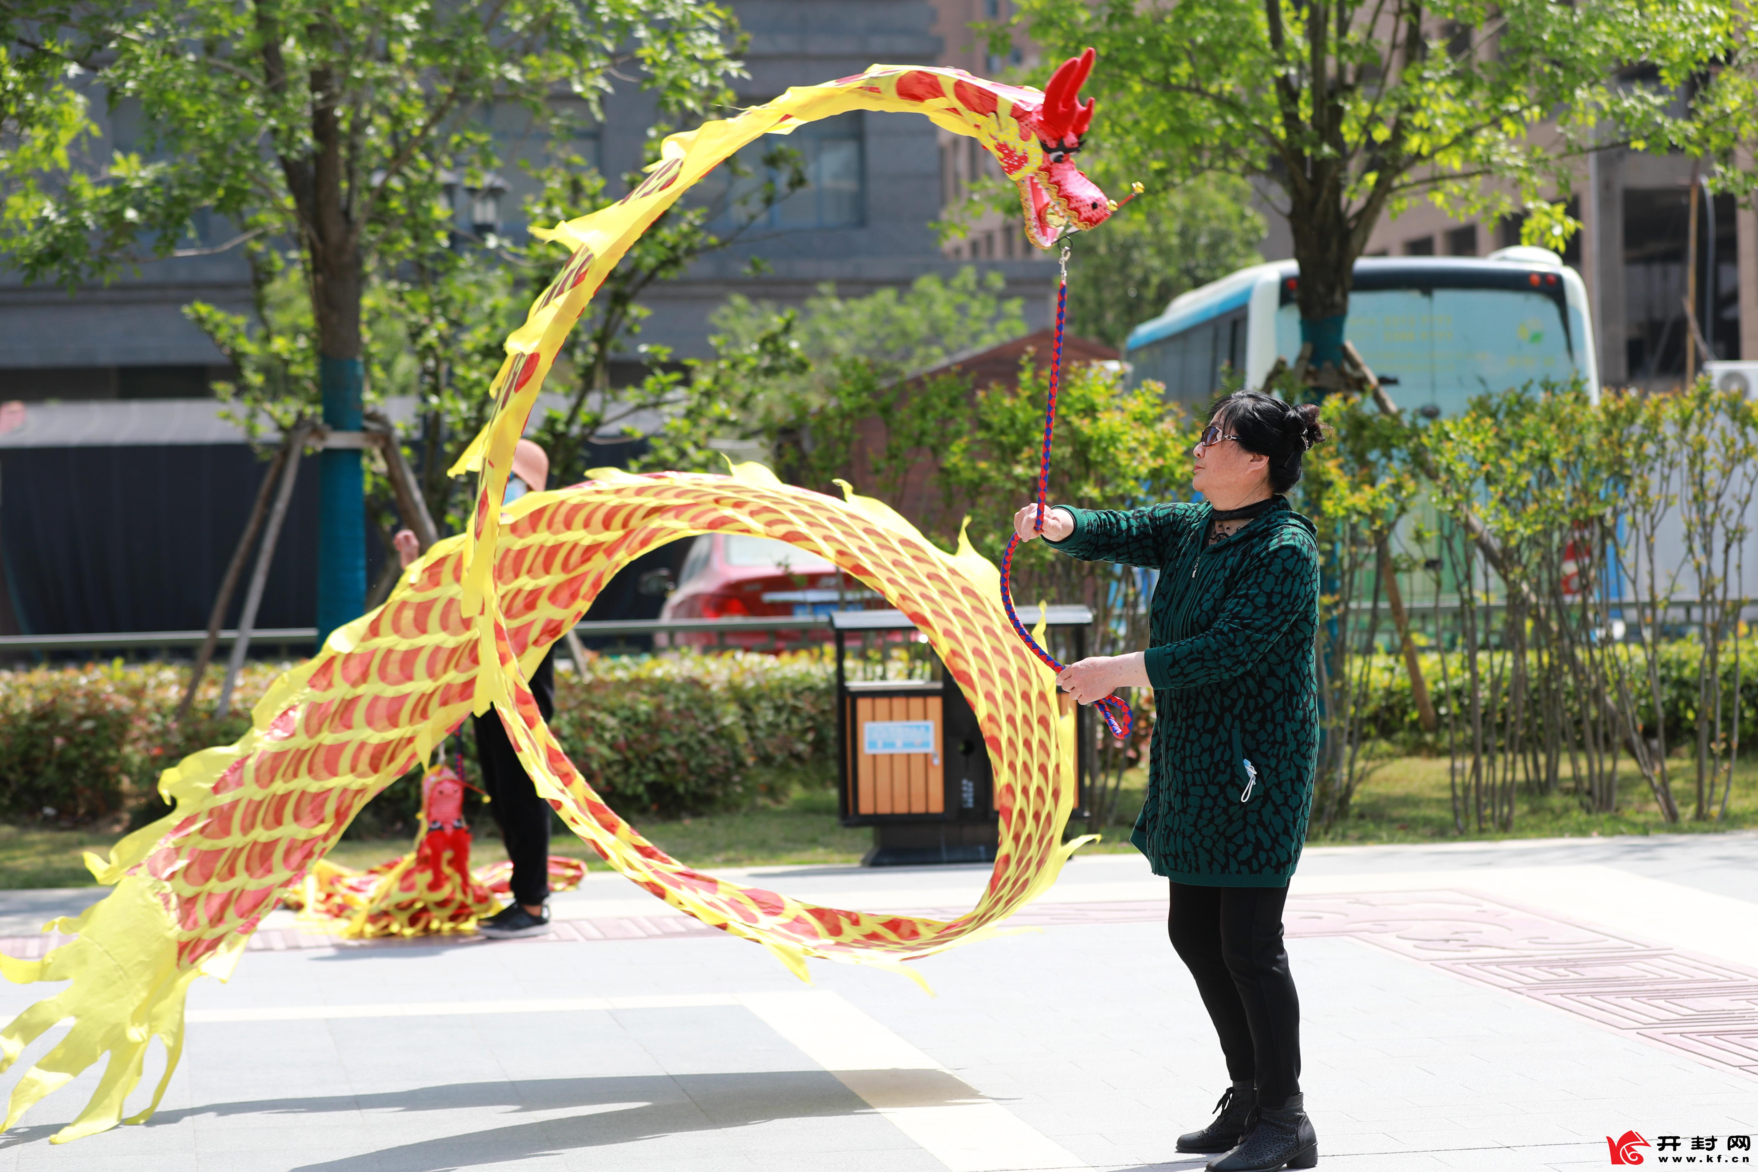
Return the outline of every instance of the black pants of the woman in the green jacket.
{"type": "Polygon", "coordinates": [[[1282,1107],[1301,1089],[1301,1000],[1282,945],[1287,887],[1173,884],[1166,928],[1220,1035],[1227,1075],[1282,1107]]]}

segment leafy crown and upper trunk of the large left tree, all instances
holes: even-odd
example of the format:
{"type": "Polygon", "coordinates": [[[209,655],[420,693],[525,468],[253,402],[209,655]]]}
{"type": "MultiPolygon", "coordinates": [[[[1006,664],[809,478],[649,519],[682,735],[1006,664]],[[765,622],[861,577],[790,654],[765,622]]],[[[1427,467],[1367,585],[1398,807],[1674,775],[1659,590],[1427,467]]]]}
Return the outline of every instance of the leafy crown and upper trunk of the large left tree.
{"type": "MultiPolygon", "coordinates": [[[[234,242],[290,241],[316,350],[362,353],[374,265],[429,253],[448,184],[499,163],[492,111],[534,130],[598,114],[621,70],[661,109],[700,112],[738,63],[730,18],[686,0],[146,0],[98,5],[93,53],[113,102],[139,102],[141,153],[58,169],[14,220],[4,258],[28,279],[111,278],[165,257],[200,213],[234,242]],[[563,100],[566,98],[566,100],[563,100]]],[[[63,83],[67,84],[67,83],[63,83]]]]}

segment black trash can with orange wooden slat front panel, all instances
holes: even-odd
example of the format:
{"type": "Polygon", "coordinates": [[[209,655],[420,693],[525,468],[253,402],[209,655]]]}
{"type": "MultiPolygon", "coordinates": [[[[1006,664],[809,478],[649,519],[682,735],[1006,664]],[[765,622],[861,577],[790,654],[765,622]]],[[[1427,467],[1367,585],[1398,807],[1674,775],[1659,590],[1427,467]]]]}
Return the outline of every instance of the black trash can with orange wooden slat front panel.
{"type": "MultiPolygon", "coordinates": [[[[1085,606],[1051,606],[1050,626],[1072,659],[1086,654],[1085,606]]],[[[849,643],[881,647],[911,640],[914,624],[897,610],[832,615],[837,640],[837,764],[844,826],[872,826],[863,866],[988,863],[1000,824],[983,731],[969,701],[923,648],[933,678],[849,678],[849,643]]],[[[1069,708],[1074,703],[1064,698],[1069,708]]],[[[1085,814],[1092,710],[1078,708],[1076,814],[1085,814]]]]}

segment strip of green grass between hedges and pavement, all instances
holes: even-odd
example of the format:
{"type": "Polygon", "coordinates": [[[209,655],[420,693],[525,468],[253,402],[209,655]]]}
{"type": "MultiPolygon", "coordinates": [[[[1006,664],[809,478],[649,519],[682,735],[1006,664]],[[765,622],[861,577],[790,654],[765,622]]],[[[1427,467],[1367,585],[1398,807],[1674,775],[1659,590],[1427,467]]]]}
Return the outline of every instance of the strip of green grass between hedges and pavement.
{"type": "MultiPolygon", "coordinates": [[[[1521,792],[1515,799],[1514,831],[1468,831],[1459,835],[1452,824],[1452,803],[1447,785],[1447,759],[1396,757],[1380,764],[1355,794],[1348,817],[1329,829],[1317,831],[1315,845],[1387,843],[1387,842],[1457,842],[1494,838],[1554,838],[1587,835],[1658,835],[1709,833],[1721,829],[1758,828],[1758,757],[1742,761],[1733,771],[1733,794],[1728,814],[1716,821],[1691,821],[1695,778],[1688,761],[1674,761],[1674,792],[1679,796],[1682,821],[1667,826],[1654,807],[1647,785],[1628,766],[1619,782],[1619,812],[1584,814],[1580,803],[1568,792],[1552,796],[1521,792]]],[[[1134,850],[1129,845],[1129,824],[1141,808],[1146,773],[1137,770],[1125,778],[1118,801],[1122,819],[1106,828],[1104,840],[1085,850],[1134,850]]],[[[763,866],[802,863],[858,863],[872,845],[872,831],[849,829],[837,824],[837,796],[828,789],[795,789],[784,805],[763,805],[751,810],[680,819],[675,822],[640,822],[640,831],[663,850],[691,866],[763,866]]],[[[1076,822],[1071,833],[1085,833],[1076,822]]],[[[120,835],[77,829],[37,829],[0,826],[0,889],[19,887],[84,887],[91,873],[81,861],[83,850],[104,854],[120,835]]],[[[406,838],[345,840],[331,857],[336,863],[367,868],[392,859],[410,849],[406,838]]],[[[556,854],[570,854],[603,866],[592,850],[559,829],[550,843],[556,854]]],[[[492,822],[476,826],[471,861],[498,863],[506,854],[492,822]]]]}

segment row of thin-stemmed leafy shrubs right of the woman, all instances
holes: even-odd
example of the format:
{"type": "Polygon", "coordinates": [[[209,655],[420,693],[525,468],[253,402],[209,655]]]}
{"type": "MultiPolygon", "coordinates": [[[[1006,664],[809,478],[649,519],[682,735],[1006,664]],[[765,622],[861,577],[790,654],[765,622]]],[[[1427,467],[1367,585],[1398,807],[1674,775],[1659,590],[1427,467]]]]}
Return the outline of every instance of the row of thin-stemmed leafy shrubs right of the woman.
{"type": "MultiPolygon", "coordinates": [[[[1693,815],[1721,817],[1749,722],[1740,583],[1758,496],[1751,404],[1707,380],[1598,402],[1579,385],[1524,387],[1412,429],[1389,452],[1398,446],[1438,520],[1406,541],[1436,599],[1427,671],[1440,669],[1431,682],[1443,696],[1456,826],[1510,831],[1521,789],[1556,794],[1565,780],[1584,810],[1614,812],[1621,770],[1677,822],[1668,756],[1686,745],[1693,815]],[[1674,562],[1667,545],[1679,536],[1674,562]]],[[[1380,701],[1362,692],[1350,703],[1371,733],[1380,701]]]]}

